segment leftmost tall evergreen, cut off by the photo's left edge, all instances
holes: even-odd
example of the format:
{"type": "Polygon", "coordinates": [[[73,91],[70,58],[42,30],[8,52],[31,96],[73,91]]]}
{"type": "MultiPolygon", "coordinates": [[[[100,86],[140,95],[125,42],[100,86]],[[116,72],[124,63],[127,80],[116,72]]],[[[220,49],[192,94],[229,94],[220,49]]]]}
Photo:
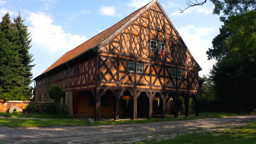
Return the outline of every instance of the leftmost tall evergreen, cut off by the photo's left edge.
{"type": "Polygon", "coordinates": [[[18,36],[16,29],[13,27],[13,23],[10,21],[9,14],[5,14],[2,17],[0,23],[1,32],[1,60],[2,60],[2,79],[9,79],[5,85],[1,87],[4,92],[11,91],[11,87],[20,87],[22,85],[22,77],[19,75],[21,69],[21,58],[19,57],[17,45],[18,36]],[[7,74],[4,75],[3,74],[7,74]],[[8,76],[9,74],[9,76],[8,76]]]}

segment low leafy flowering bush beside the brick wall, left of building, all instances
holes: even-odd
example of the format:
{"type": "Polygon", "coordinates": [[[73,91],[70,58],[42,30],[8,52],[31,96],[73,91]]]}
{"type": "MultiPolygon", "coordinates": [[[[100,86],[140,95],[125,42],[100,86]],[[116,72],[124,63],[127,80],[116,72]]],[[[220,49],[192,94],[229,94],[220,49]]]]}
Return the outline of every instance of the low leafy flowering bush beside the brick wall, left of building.
{"type": "Polygon", "coordinates": [[[28,104],[26,109],[23,110],[25,113],[39,113],[39,114],[55,114],[60,113],[57,110],[56,104],[28,104]]]}

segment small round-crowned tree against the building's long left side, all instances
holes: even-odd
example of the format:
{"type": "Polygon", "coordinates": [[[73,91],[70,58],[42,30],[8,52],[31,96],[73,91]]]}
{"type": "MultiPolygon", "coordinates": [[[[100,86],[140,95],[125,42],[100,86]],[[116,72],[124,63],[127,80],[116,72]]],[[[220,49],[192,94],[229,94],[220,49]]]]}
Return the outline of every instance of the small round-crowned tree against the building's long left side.
{"type": "Polygon", "coordinates": [[[60,104],[61,98],[64,97],[64,91],[61,86],[53,85],[53,88],[49,91],[49,98],[54,99],[56,104],[60,104]]]}

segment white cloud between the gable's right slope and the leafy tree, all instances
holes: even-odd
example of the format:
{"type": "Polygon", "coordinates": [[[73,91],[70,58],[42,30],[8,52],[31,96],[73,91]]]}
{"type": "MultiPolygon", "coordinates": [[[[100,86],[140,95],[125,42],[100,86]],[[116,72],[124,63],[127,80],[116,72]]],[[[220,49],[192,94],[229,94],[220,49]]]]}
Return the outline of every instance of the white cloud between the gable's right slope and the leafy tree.
{"type": "Polygon", "coordinates": [[[189,51],[202,68],[202,71],[199,72],[200,76],[208,75],[213,63],[216,62],[214,59],[211,61],[207,60],[206,51],[208,48],[212,47],[212,38],[208,37],[208,35],[218,31],[217,29],[218,28],[214,27],[206,28],[195,26],[177,28],[177,31],[188,46],[189,51]]]}

